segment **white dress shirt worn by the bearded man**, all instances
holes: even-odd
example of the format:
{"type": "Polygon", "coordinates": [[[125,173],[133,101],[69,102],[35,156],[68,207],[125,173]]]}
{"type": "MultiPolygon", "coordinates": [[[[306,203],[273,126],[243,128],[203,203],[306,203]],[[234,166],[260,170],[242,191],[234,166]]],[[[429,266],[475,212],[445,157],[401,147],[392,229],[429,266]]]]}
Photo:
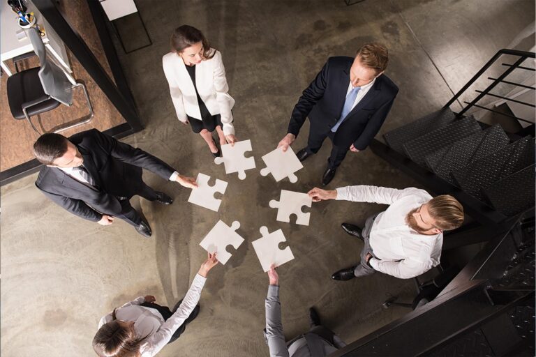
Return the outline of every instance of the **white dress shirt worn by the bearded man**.
{"type": "Polygon", "coordinates": [[[432,199],[425,190],[347,186],[337,188],[336,199],[390,205],[375,218],[369,238],[374,255],[381,259],[372,258],[369,261],[376,271],[408,279],[439,264],[443,234],[419,234],[405,222],[406,215],[413,208],[432,199]]]}

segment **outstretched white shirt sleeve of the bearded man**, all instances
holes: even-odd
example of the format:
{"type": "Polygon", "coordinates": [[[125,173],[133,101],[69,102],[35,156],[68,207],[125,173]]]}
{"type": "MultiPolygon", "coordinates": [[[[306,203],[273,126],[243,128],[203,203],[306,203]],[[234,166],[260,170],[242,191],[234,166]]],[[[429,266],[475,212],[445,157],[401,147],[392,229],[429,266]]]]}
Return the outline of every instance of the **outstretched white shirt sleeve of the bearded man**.
{"type": "Polygon", "coordinates": [[[352,202],[371,202],[376,204],[393,204],[404,196],[413,195],[418,188],[405,188],[398,190],[396,188],[356,185],[337,188],[337,200],[352,202]]]}

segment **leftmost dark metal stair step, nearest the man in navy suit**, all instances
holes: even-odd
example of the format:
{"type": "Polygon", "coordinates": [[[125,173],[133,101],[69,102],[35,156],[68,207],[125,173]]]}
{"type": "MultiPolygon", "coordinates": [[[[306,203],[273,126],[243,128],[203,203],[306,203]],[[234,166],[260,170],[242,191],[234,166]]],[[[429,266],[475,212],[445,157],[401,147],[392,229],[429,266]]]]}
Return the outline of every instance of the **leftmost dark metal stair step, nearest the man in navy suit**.
{"type": "Polygon", "coordinates": [[[383,135],[385,142],[391,149],[405,155],[403,144],[412,139],[420,137],[427,132],[431,132],[437,128],[442,128],[454,121],[454,113],[449,108],[443,108],[437,112],[433,112],[423,116],[416,121],[401,126],[383,135]]]}

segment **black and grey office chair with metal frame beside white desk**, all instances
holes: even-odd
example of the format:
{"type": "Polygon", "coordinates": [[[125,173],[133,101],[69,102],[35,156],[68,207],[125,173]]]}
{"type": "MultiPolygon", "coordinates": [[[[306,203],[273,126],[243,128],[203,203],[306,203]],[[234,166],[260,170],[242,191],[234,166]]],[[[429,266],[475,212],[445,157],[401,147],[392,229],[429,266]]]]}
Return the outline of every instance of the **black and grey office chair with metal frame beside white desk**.
{"type": "Polygon", "coordinates": [[[34,47],[34,52],[39,57],[40,67],[23,70],[8,77],[8,102],[13,118],[26,119],[31,128],[40,135],[39,130],[31,121],[31,116],[48,112],[61,104],[70,107],[73,105],[73,89],[81,86],[86,96],[89,114],[76,121],[52,128],[49,132],[60,132],[89,123],[94,113],[86,86],[81,82],[71,84],[64,71],[56,63],[47,59],[45,44],[37,29],[32,27],[25,31],[34,47]]]}

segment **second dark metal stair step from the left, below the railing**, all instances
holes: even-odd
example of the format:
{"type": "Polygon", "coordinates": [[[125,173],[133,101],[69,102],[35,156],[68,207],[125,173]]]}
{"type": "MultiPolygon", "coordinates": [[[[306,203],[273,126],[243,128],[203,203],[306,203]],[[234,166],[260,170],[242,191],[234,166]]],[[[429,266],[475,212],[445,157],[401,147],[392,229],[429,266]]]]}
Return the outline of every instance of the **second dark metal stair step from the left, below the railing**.
{"type": "Polygon", "coordinates": [[[482,132],[479,123],[473,118],[462,118],[447,126],[427,132],[425,135],[403,144],[405,154],[412,161],[426,167],[427,155],[444,147],[451,146],[464,137],[482,132]]]}

